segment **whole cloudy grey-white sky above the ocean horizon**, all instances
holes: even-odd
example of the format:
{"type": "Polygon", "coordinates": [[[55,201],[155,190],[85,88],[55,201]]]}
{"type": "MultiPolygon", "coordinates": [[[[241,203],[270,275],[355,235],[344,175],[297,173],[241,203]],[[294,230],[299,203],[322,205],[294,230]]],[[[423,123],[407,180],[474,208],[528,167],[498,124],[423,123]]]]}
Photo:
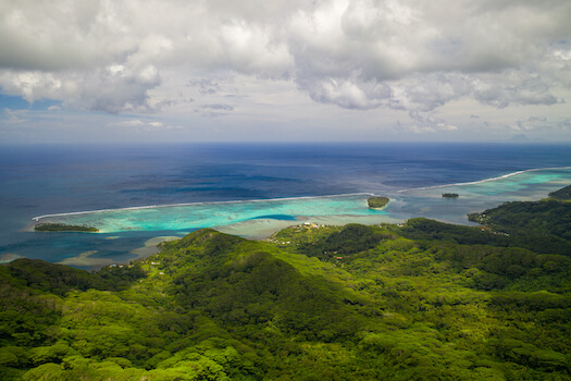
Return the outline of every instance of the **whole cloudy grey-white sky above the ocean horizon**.
{"type": "Polygon", "coordinates": [[[571,142],[569,0],[0,0],[0,142],[571,142]]]}

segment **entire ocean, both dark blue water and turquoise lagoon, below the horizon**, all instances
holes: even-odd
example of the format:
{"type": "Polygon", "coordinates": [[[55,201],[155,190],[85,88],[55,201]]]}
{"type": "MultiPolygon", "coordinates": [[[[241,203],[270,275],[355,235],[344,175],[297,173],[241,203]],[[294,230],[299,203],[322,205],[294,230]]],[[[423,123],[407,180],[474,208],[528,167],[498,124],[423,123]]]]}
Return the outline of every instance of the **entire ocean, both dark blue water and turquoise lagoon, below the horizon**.
{"type": "Polygon", "coordinates": [[[467,212],[571,184],[570,165],[569,145],[2,146],[0,261],[89,269],[150,253],[142,247],[153,237],[200,228],[261,238],[303,222],[429,217],[469,224],[467,212]],[[445,192],[460,197],[443,199],[445,192]],[[370,210],[370,194],[392,202],[370,210]],[[29,229],[33,218],[101,233],[38,233],[29,229]]]}

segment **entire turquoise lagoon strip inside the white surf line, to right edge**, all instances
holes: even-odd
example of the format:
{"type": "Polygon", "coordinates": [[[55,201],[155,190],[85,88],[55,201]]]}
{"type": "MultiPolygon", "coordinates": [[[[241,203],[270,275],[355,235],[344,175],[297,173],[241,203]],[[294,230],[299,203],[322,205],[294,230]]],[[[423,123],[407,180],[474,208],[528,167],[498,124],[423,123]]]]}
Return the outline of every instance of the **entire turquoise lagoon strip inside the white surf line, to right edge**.
{"type": "Polygon", "coordinates": [[[176,231],[183,234],[196,229],[215,228],[251,238],[262,238],[281,228],[303,222],[375,224],[426,217],[470,224],[467,219],[469,212],[482,211],[506,201],[545,198],[549,192],[570,182],[571,168],[566,167],[514,172],[470,183],[385,192],[382,195],[390,197],[390,202],[384,210],[368,208],[370,194],[349,194],[142,206],[47,214],[36,217],[34,221],[86,224],[98,228],[101,233],[176,231]],[[442,197],[443,193],[457,193],[460,197],[446,199],[442,197]]]}

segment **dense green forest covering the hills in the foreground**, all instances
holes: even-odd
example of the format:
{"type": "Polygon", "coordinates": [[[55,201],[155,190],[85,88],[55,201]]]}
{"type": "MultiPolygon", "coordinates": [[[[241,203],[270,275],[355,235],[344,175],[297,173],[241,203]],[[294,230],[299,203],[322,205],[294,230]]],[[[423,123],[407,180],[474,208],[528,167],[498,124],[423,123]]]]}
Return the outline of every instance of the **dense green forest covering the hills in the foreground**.
{"type": "Polygon", "coordinates": [[[201,230],[95,273],[15,260],[0,379],[571,380],[569,211],[541,202],[485,228],[201,230]]]}

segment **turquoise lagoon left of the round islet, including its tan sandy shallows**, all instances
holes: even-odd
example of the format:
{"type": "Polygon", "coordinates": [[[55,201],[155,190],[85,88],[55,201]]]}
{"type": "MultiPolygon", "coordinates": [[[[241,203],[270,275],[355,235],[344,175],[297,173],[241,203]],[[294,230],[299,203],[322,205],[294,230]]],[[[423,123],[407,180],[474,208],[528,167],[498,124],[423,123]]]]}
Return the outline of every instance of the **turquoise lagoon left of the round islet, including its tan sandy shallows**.
{"type": "Polygon", "coordinates": [[[195,202],[96,210],[35,218],[38,222],[62,222],[96,226],[101,233],[126,231],[190,231],[216,228],[260,238],[281,226],[316,222],[345,224],[392,220],[384,210],[368,208],[370,194],[296,197],[269,200],[195,202]],[[381,219],[381,220],[380,220],[381,219]],[[240,233],[241,232],[241,233],[240,233]]]}

